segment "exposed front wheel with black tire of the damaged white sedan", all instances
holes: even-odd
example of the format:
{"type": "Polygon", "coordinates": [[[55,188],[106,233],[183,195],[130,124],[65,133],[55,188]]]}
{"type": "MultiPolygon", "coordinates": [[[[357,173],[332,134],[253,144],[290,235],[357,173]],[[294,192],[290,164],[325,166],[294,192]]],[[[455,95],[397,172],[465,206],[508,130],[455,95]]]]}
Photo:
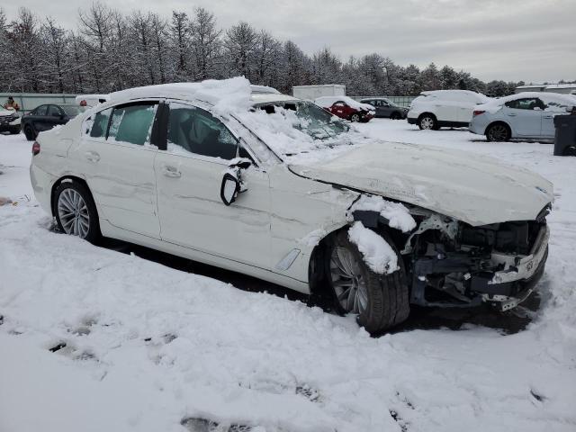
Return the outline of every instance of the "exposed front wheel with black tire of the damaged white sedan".
{"type": "Polygon", "coordinates": [[[400,270],[378,275],[366,266],[347,230],[338,232],[328,248],[326,272],[337,310],[356,314],[358,324],[369,333],[390,329],[410,313],[404,266],[398,251],[396,254],[400,270]]]}

